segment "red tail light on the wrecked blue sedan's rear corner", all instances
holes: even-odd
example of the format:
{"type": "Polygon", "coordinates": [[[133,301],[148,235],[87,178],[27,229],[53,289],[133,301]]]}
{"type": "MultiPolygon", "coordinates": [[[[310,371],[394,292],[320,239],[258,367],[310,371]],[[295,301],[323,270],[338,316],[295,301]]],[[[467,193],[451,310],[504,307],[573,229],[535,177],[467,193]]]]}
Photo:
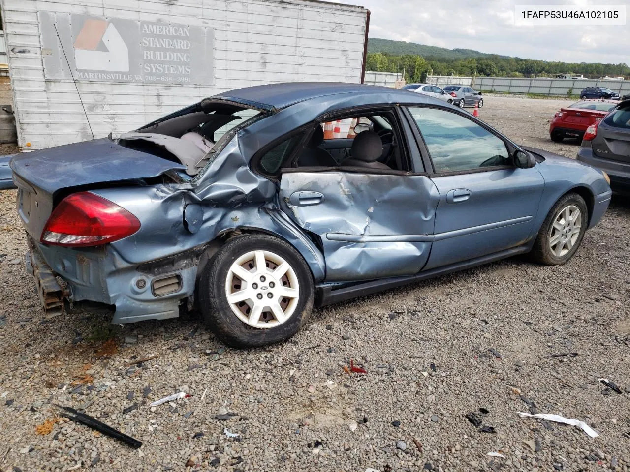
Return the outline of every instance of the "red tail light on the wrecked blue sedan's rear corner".
{"type": "Polygon", "coordinates": [[[59,246],[96,246],[140,229],[138,218],[112,201],[89,192],[64,198],[43,228],[42,242],[59,246]]]}

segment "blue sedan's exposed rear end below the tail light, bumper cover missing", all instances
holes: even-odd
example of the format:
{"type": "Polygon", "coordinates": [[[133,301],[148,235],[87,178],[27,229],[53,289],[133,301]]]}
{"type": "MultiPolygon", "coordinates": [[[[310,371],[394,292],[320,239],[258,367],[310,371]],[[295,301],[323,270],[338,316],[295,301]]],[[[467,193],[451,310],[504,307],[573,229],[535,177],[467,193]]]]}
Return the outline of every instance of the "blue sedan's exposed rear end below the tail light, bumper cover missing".
{"type": "Polygon", "coordinates": [[[62,313],[64,302],[94,301],[115,305],[112,323],[161,320],[178,317],[181,303],[193,299],[197,264],[147,269],[124,261],[110,246],[77,250],[28,239],[26,269],[50,315],[62,313]],[[154,281],[169,276],[178,280],[174,291],[156,295],[154,281]]]}

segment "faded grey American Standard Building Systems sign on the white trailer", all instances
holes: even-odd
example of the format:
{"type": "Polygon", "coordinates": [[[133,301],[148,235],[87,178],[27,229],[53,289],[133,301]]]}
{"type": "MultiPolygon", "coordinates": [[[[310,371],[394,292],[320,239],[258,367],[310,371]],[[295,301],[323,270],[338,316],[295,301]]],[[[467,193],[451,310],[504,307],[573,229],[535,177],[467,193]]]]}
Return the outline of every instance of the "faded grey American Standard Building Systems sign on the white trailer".
{"type": "Polygon", "coordinates": [[[214,85],[207,26],[40,11],[46,79],[214,85]]]}

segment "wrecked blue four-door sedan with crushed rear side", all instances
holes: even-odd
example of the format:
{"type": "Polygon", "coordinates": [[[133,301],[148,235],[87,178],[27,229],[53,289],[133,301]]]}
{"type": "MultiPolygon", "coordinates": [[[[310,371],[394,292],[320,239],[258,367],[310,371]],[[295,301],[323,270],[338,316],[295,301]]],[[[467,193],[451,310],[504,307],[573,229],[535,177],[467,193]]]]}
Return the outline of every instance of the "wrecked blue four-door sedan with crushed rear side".
{"type": "Polygon", "coordinates": [[[113,323],[199,310],[232,346],[326,305],[529,253],[564,264],[607,175],[421,94],[290,83],[11,161],[45,307],[113,323]]]}

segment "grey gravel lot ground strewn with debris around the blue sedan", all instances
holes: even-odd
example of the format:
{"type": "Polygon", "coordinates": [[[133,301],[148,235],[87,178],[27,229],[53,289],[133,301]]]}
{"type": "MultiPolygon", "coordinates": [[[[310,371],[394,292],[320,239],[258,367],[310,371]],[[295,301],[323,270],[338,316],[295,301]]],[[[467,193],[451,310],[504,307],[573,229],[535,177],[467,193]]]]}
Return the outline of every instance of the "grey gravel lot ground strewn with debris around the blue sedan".
{"type": "MultiPolygon", "coordinates": [[[[517,142],[575,156],[575,144],[547,132],[565,102],[484,101],[481,118],[517,142]]],[[[626,201],[614,200],[565,266],[508,259],[318,310],[290,342],[236,351],[193,316],[123,327],[89,312],[44,319],[14,196],[0,192],[5,472],[630,470],[626,201]],[[367,374],[345,372],[350,359],[367,374]],[[150,407],[176,391],[191,396],[150,407]],[[46,424],[52,403],[144,446],[46,424]],[[583,420],[600,436],[517,415],[532,411],[583,420]],[[471,412],[496,432],[479,432],[471,412]]]]}

